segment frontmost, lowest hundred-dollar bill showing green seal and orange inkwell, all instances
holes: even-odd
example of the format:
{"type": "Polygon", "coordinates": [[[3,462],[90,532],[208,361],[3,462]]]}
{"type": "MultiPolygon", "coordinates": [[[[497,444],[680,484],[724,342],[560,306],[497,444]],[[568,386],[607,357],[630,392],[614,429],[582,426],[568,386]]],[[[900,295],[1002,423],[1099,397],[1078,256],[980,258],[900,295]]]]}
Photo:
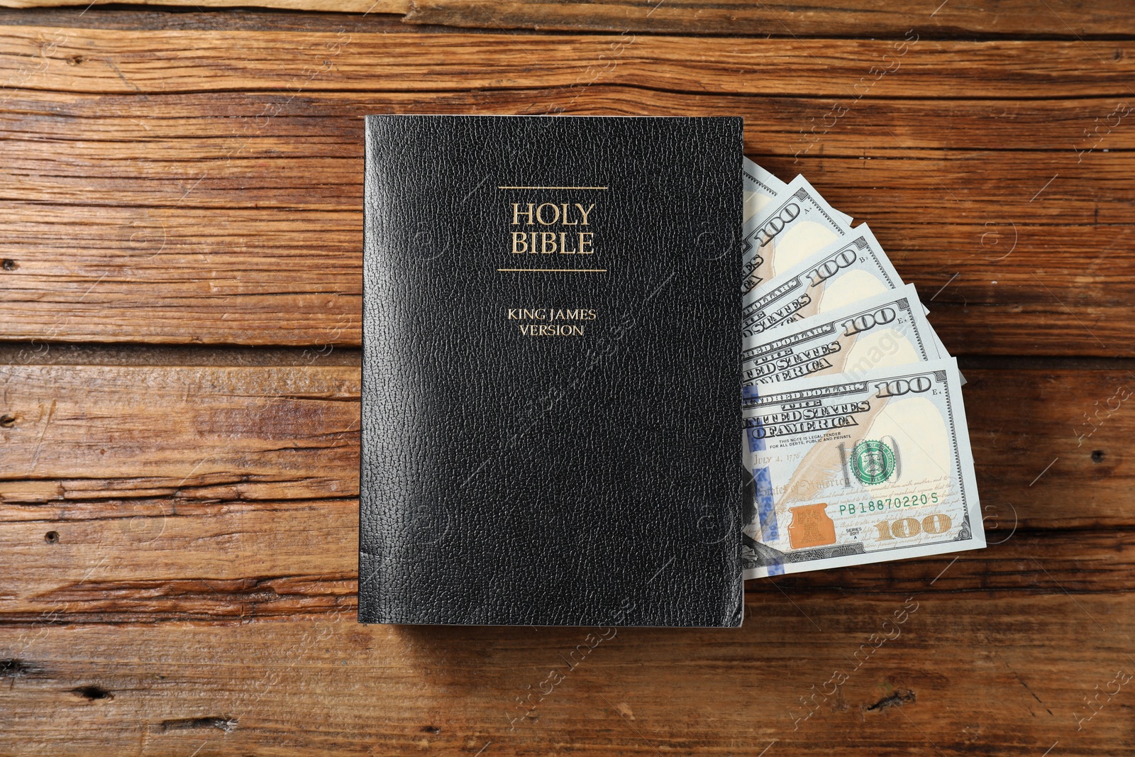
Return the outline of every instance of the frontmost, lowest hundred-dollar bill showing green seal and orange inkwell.
{"type": "Polygon", "coordinates": [[[985,546],[952,358],[748,387],[745,578],[985,546]]]}

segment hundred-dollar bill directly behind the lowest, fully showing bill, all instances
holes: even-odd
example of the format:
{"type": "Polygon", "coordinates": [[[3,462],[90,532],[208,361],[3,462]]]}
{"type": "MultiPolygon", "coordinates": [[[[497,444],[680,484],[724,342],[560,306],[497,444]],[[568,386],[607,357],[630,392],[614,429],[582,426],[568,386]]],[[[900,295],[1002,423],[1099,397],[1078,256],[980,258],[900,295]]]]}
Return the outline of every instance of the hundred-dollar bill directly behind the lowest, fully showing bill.
{"type": "Polygon", "coordinates": [[[741,382],[806,376],[848,378],[888,365],[944,358],[910,284],[742,339],[741,382]]]}

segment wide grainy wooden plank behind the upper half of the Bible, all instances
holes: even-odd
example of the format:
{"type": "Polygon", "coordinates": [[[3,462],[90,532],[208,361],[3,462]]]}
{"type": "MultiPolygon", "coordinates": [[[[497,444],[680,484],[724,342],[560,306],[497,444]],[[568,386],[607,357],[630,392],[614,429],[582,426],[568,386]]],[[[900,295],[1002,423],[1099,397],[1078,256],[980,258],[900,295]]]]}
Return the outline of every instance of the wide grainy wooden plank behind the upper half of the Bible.
{"type": "Polygon", "coordinates": [[[25,26],[0,40],[5,338],[355,346],[360,117],[562,109],[745,116],[751,157],[871,224],[951,351],[1129,354],[1121,41],[1101,64],[1102,41],[922,40],[865,90],[892,42],[25,26]],[[959,81],[982,99],[955,99],[959,81]]]}

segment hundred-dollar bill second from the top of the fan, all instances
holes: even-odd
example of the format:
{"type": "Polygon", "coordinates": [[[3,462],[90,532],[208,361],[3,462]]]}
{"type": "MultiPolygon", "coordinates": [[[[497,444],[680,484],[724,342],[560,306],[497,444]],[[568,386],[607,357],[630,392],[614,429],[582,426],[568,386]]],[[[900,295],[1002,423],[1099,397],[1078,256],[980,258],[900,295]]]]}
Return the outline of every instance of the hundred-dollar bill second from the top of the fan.
{"type": "Polygon", "coordinates": [[[792,179],[764,212],[745,224],[741,292],[756,289],[836,239],[850,236],[851,227],[841,216],[804,176],[792,179]]]}

